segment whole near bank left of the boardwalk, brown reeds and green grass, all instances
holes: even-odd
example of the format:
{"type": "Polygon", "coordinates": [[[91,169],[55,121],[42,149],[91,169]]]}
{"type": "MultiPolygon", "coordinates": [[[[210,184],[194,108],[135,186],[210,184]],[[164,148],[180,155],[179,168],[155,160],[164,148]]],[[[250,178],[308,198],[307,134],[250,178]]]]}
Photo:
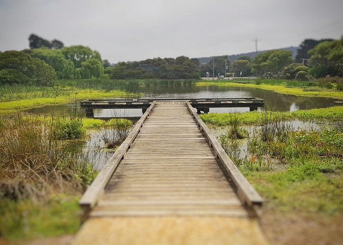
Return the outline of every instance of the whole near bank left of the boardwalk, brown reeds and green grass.
{"type": "Polygon", "coordinates": [[[78,199],[98,173],[91,162],[100,148],[84,151],[86,130],[98,129],[105,146],[115,147],[131,126],[68,114],[0,117],[0,243],[75,233],[78,199]]]}

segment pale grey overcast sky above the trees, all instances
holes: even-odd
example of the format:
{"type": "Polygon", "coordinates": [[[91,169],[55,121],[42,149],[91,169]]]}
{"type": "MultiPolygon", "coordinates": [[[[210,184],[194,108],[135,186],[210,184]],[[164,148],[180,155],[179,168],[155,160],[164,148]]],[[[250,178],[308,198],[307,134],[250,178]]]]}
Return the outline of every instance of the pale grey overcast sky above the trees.
{"type": "Polygon", "coordinates": [[[35,33],[111,63],[298,46],[343,35],[343,0],[0,0],[0,51],[35,33]]]}

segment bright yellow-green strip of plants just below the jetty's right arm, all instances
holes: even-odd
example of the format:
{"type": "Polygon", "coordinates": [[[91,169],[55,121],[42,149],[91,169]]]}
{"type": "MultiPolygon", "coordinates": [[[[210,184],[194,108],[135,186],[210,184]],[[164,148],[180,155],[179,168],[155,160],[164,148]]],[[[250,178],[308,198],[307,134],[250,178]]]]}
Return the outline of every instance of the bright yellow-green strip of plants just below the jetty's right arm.
{"type": "MultiPolygon", "coordinates": [[[[298,119],[300,121],[327,120],[340,121],[343,118],[343,106],[334,106],[328,108],[319,108],[311,110],[298,110],[293,112],[270,112],[272,115],[278,115],[285,120],[298,119]]],[[[200,115],[200,118],[212,126],[230,125],[231,113],[208,113],[200,115]]],[[[260,125],[263,119],[263,112],[252,111],[238,113],[240,125],[260,125]]]]}

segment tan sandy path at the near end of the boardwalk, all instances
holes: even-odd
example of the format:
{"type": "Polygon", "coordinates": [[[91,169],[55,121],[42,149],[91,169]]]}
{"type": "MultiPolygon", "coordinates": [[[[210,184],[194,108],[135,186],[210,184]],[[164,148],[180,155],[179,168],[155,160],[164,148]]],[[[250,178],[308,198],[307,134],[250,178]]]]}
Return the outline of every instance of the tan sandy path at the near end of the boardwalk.
{"type": "Polygon", "coordinates": [[[227,217],[90,218],[74,245],[268,244],[257,220],[227,217]]]}

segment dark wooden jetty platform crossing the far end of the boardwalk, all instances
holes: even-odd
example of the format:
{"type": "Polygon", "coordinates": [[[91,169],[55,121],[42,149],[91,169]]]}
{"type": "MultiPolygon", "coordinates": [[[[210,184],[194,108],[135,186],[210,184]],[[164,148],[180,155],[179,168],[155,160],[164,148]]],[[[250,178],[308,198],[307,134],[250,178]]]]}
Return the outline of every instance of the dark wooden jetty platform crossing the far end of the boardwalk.
{"type": "MultiPolygon", "coordinates": [[[[94,116],[94,109],[142,109],[143,113],[154,102],[166,102],[171,99],[87,99],[80,102],[81,108],[85,109],[86,115],[94,116]]],[[[188,101],[197,113],[208,113],[210,108],[222,107],[249,107],[250,111],[264,107],[265,101],[261,98],[185,98],[173,99],[173,101],[188,101]]]]}

